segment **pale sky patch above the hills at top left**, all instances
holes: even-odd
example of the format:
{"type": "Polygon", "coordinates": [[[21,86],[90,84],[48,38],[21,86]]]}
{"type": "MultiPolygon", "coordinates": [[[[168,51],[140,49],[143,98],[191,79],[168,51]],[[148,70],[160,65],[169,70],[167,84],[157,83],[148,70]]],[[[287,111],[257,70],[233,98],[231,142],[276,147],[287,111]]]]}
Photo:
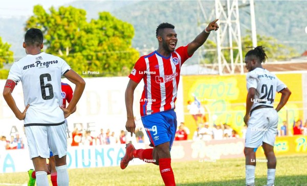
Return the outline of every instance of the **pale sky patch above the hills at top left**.
{"type": "Polygon", "coordinates": [[[51,6],[58,7],[73,2],[73,0],[1,0],[0,17],[31,16],[34,5],[42,5],[48,9],[51,6]]]}

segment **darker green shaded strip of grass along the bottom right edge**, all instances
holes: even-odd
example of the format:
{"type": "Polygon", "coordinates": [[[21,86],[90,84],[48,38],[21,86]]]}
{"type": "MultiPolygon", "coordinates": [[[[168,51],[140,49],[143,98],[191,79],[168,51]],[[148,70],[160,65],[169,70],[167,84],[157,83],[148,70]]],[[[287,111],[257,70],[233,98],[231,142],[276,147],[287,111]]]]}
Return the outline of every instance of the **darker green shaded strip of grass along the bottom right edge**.
{"type": "MultiPolygon", "coordinates": [[[[205,179],[205,178],[204,178],[205,179]]],[[[266,177],[255,179],[256,186],[267,184],[266,177]]],[[[245,179],[225,180],[225,181],[195,181],[195,183],[178,183],[178,186],[244,186],[245,179]]],[[[276,186],[307,186],[307,175],[298,176],[277,176],[275,178],[276,186]]]]}

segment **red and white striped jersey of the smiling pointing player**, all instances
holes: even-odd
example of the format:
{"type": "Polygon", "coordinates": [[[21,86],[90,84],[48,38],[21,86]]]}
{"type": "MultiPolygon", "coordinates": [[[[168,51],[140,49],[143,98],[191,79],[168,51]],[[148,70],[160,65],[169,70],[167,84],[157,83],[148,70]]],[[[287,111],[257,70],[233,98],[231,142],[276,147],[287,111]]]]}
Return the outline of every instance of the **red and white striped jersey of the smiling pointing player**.
{"type": "Polygon", "coordinates": [[[141,116],[175,108],[181,65],[191,56],[188,45],[179,47],[170,56],[157,51],[140,57],[129,78],[137,83],[144,80],[140,99],[141,116]]]}

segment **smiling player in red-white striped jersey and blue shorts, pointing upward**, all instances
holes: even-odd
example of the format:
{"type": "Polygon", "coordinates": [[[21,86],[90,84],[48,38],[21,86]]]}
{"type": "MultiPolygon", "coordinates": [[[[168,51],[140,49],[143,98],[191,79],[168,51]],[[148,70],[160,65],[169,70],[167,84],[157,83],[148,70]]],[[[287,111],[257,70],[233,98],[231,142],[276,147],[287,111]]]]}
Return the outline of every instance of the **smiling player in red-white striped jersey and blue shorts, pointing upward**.
{"type": "Polygon", "coordinates": [[[136,62],[129,75],[130,80],[125,92],[126,129],[132,135],[136,127],[133,114],[134,90],[140,81],[144,80],[140,111],[145,131],[153,148],[136,150],[132,144],[127,144],[126,153],[120,163],[121,169],[125,169],[133,158],[140,158],[145,162],[159,165],[165,185],[176,185],[171,169],[170,149],[177,129],[174,103],[177,97],[180,68],[204,44],[210,32],[218,29],[217,20],[210,22],[192,42],[177,49],[178,39],[174,26],[166,22],[158,26],[156,30],[158,49],[140,57],[136,62]]]}

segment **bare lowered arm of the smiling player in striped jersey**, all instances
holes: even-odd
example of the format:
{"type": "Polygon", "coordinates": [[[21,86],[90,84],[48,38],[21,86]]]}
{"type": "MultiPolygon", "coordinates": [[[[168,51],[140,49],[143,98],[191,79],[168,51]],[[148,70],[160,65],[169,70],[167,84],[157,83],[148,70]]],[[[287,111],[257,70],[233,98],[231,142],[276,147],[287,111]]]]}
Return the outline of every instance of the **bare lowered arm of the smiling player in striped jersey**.
{"type": "Polygon", "coordinates": [[[131,132],[131,136],[135,133],[136,124],[134,121],[134,114],[133,114],[133,100],[134,100],[134,91],[139,83],[129,80],[126,92],[125,92],[125,103],[126,103],[126,110],[127,110],[127,122],[126,122],[126,130],[131,132]]]}

